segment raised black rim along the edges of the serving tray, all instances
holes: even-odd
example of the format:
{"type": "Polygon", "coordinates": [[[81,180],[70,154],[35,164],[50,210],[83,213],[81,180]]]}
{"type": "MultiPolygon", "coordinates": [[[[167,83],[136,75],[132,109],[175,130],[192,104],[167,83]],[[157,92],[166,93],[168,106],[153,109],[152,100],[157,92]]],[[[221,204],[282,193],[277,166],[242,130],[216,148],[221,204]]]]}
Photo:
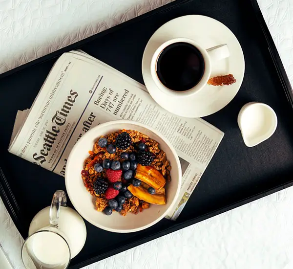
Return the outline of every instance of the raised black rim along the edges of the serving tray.
{"type": "MultiPolygon", "coordinates": [[[[158,13],[161,13],[161,12],[165,12],[167,11],[168,9],[172,9],[178,5],[181,5],[181,4],[184,4],[185,2],[189,2],[189,1],[192,1],[192,0],[175,0],[173,2],[170,2],[166,5],[163,5],[159,8],[156,8],[150,12],[147,12],[141,16],[138,16],[136,18],[133,18],[127,22],[123,22],[121,24],[118,24],[114,27],[111,27],[103,32],[100,32],[100,33],[97,33],[95,35],[92,35],[84,40],[81,40],[79,42],[76,42],[74,44],[71,44],[71,45],[68,45],[68,46],[65,46],[57,51],[54,51],[52,53],[49,53],[45,56],[42,56],[41,58],[38,58],[38,59],[35,59],[33,61],[30,61],[20,67],[16,67],[16,68],[13,68],[11,70],[8,70],[2,74],[0,74],[0,79],[3,79],[5,78],[6,76],[10,76],[12,74],[15,74],[17,73],[18,71],[21,71],[21,70],[24,70],[26,69],[27,67],[33,67],[33,66],[37,66],[45,61],[49,61],[49,60],[52,60],[54,58],[57,58],[59,57],[61,54],[63,54],[64,52],[67,52],[67,51],[70,51],[70,50],[73,50],[73,49],[77,49],[85,44],[87,44],[88,42],[90,41],[93,41],[95,40],[96,38],[100,38],[102,36],[105,36],[107,34],[110,34],[112,32],[115,32],[117,30],[119,30],[120,28],[124,28],[124,27],[127,27],[128,25],[132,24],[132,23],[135,23],[135,22],[139,22],[147,17],[151,17],[155,14],[158,14],[158,13]]],[[[251,4],[252,6],[252,9],[254,11],[254,15],[257,19],[257,21],[259,22],[259,25],[261,27],[261,30],[263,32],[263,35],[264,35],[264,38],[268,44],[268,49],[269,49],[269,52],[270,52],[270,55],[271,55],[271,58],[272,58],[272,62],[274,64],[274,67],[276,69],[276,72],[278,74],[278,77],[280,79],[280,82],[283,86],[283,90],[285,91],[285,94],[286,94],[286,97],[287,97],[287,100],[288,102],[290,103],[291,107],[293,108],[293,90],[292,90],[292,86],[291,86],[291,83],[289,81],[289,78],[287,76],[287,73],[285,71],[285,68],[283,66],[283,63],[281,61],[281,58],[279,56],[279,53],[277,51],[277,48],[274,44],[274,41],[272,39],[272,36],[271,36],[271,33],[269,31],[269,28],[263,18],[263,15],[261,13],[261,10],[260,10],[260,7],[258,5],[258,2],[257,0],[247,0],[248,4],[251,4]]],[[[89,264],[92,264],[92,263],[95,263],[95,262],[98,262],[98,261],[101,261],[105,258],[108,258],[110,256],[113,256],[115,254],[118,254],[122,251],[125,251],[127,249],[130,249],[132,247],[136,247],[136,246],[139,246],[141,244],[144,244],[148,241],[151,241],[151,240],[154,240],[156,238],[159,238],[161,236],[164,236],[164,235],[167,235],[169,233],[172,233],[174,231],[177,231],[177,230],[180,230],[182,228],[185,228],[189,225],[192,225],[192,224],[196,224],[198,222],[201,222],[201,221],[204,221],[206,219],[209,219],[211,217],[214,217],[218,214],[222,214],[224,212],[227,212],[231,209],[234,209],[236,207],[239,207],[241,205],[244,205],[246,203],[249,203],[249,202],[253,202],[255,200],[258,200],[260,198],[263,198],[265,196],[268,196],[270,194],[273,194],[275,192],[278,192],[280,190],[283,190],[285,188],[288,188],[290,186],[293,186],[293,179],[286,182],[286,183],[283,183],[283,184],[279,184],[279,185],[276,185],[275,187],[272,187],[266,191],[262,191],[262,192],[259,192],[258,194],[256,195],[253,195],[253,196],[250,196],[250,197],[247,197],[243,200],[240,200],[238,202],[235,202],[235,203],[232,203],[228,206],[225,206],[225,207],[222,207],[220,209],[217,209],[217,210],[214,210],[214,211],[211,211],[209,212],[208,214],[205,214],[205,215],[202,215],[202,216],[199,216],[199,217],[196,217],[196,218],[192,218],[192,219],[189,219],[181,224],[175,224],[173,225],[172,227],[170,228],[167,228],[163,231],[159,231],[155,234],[152,234],[152,235],[149,235],[149,236],[146,236],[144,237],[143,239],[139,239],[139,240],[136,240],[136,241],[133,241],[123,247],[118,247],[118,248],[115,248],[114,250],[108,250],[106,252],[104,252],[103,254],[100,254],[100,255],[96,255],[95,257],[92,257],[92,258],[89,258],[89,259],[86,259],[82,262],[78,262],[74,265],[70,265],[69,266],[69,269],[78,269],[78,268],[81,268],[81,267],[84,267],[84,266],[87,266],[89,264]]],[[[0,197],[8,211],[8,213],[10,214],[14,224],[16,225],[17,229],[19,230],[21,236],[22,234],[25,234],[27,231],[24,230],[22,228],[22,225],[21,225],[21,216],[20,216],[20,209],[19,209],[19,206],[18,206],[18,203],[16,202],[16,199],[13,195],[13,192],[9,186],[9,183],[8,183],[8,180],[6,179],[5,177],[5,174],[3,172],[3,170],[1,169],[0,167],[0,197]]]]}

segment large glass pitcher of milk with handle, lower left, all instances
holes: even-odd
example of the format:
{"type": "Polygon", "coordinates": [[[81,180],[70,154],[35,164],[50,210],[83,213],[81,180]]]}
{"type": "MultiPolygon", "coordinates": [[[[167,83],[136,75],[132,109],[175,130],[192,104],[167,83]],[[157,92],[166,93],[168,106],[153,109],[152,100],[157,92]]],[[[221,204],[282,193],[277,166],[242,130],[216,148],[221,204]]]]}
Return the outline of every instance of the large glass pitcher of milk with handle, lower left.
{"type": "Polygon", "coordinates": [[[65,192],[58,190],[51,206],[33,218],[28,235],[21,249],[27,269],[65,269],[84,247],[86,228],[83,218],[66,206],[65,192]]]}

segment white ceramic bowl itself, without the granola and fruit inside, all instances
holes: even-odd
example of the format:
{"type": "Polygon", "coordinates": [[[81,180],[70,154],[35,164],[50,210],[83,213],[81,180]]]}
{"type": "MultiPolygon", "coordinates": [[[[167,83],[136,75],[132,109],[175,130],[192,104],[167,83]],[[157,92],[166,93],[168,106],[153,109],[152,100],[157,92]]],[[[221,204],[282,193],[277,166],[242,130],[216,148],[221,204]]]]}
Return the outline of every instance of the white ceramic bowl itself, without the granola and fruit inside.
{"type": "Polygon", "coordinates": [[[174,205],[181,187],[181,166],[173,146],[157,131],[135,121],[115,120],[94,127],[79,139],[67,160],[65,183],[72,204],[89,223],[112,232],[136,232],[159,222],[167,215],[168,209],[174,205]],[[94,142],[101,135],[121,129],[139,131],[159,143],[160,148],[166,152],[172,167],[171,181],[166,184],[166,204],[151,204],[148,209],[137,215],[129,213],[123,217],[117,212],[113,212],[111,216],[106,216],[95,209],[94,198],[84,187],[81,171],[84,159],[88,157],[88,151],[93,149],[94,142]]]}

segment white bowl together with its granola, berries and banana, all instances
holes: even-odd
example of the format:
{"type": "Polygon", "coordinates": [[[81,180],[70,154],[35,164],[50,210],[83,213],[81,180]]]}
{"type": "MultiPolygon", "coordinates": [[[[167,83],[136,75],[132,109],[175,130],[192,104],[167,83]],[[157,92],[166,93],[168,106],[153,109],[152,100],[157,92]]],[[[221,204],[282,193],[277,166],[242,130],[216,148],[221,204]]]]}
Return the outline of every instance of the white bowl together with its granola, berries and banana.
{"type": "Polygon", "coordinates": [[[142,123],[117,120],[79,139],[67,161],[65,183],[88,222],[134,232],[157,223],[174,206],[181,166],[161,134],[142,123]]]}

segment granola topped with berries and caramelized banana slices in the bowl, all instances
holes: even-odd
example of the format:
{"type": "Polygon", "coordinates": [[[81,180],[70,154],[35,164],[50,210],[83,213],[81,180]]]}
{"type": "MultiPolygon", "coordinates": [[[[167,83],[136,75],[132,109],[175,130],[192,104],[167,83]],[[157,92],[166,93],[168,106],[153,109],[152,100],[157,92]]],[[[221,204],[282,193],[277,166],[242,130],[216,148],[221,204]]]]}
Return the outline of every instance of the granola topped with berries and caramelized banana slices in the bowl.
{"type": "Polygon", "coordinates": [[[170,181],[170,170],[171,166],[166,153],[160,149],[157,141],[135,130],[119,130],[101,136],[94,143],[93,150],[89,151],[89,157],[84,160],[84,169],[81,174],[87,191],[96,197],[97,211],[104,211],[105,214],[110,215],[113,210],[126,216],[128,212],[138,214],[149,208],[150,202],[156,204],[166,202],[164,185],[166,181],[170,181]],[[112,147],[109,147],[110,145],[112,147]],[[122,153],[125,153],[124,156],[121,155],[122,153]],[[131,155],[134,157],[130,158],[131,155]],[[129,163],[131,163],[131,169],[128,167],[129,163]],[[155,173],[152,170],[158,172],[155,173]],[[149,194],[147,194],[147,188],[154,189],[153,179],[156,184],[162,181],[163,183],[154,185],[157,192],[148,190],[149,194]],[[148,197],[155,192],[156,195],[148,197]],[[158,196],[163,195],[164,199],[159,197],[160,199],[156,200],[158,196]],[[137,196],[143,197],[144,200],[137,196]]]}

